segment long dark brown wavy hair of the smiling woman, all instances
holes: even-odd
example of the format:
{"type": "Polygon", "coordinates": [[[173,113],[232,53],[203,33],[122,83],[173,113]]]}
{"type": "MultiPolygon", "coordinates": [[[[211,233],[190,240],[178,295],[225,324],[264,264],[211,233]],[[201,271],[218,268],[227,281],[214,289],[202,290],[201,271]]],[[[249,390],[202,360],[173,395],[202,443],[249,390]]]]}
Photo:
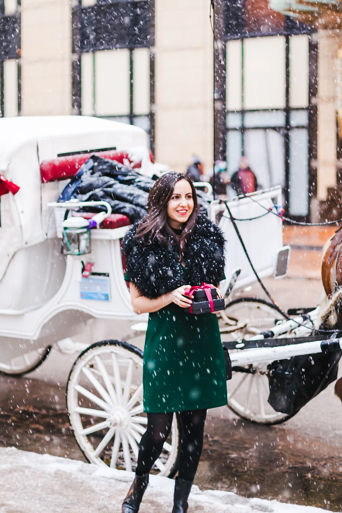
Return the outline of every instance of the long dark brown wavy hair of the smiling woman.
{"type": "Polygon", "coordinates": [[[186,250],[186,242],[195,227],[198,216],[198,202],[196,189],[190,176],[184,173],[166,173],[160,176],[147,199],[147,215],[140,221],[136,230],[136,239],[140,239],[144,245],[157,239],[160,243],[170,244],[167,234],[171,235],[179,249],[179,260],[186,250]],[[192,190],[194,208],[181,234],[175,233],[167,222],[167,210],[174,187],[180,180],[186,180],[192,190]]]}

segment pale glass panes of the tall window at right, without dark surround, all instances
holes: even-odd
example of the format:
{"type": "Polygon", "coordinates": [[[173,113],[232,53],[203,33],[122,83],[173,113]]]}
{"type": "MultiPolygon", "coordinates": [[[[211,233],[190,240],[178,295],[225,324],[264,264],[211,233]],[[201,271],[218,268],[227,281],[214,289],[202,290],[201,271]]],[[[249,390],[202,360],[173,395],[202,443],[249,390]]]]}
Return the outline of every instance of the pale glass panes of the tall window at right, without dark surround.
{"type": "Polygon", "coordinates": [[[227,42],[227,163],[246,155],[263,188],[281,185],[288,211],[306,216],[309,36],[227,42]]]}

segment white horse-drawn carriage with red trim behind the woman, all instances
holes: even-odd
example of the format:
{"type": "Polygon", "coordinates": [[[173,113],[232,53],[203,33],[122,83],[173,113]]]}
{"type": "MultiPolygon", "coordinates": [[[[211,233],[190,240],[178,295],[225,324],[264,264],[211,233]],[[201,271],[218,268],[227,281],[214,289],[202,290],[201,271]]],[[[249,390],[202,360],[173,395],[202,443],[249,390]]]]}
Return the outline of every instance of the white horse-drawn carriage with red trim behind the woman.
{"type": "MultiPolygon", "coordinates": [[[[85,116],[0,120],[0,173],[5,185],[7,180],[19,187],[14,195],[9,192],[0,199],[0,371],[5,374],[32,371],[52,344],[73,336],[90,319],[115,320],[117,329],[119,323],[129,321],[132,335],[146,329],[147,315],[133,312],[124,281],[120,240],[128,229],[127,218],[123,222],[124,216],[118,216],[121,220],[106,224],[111,216],[106,202],[56,203],[67,181],[92,153],[120,160],[148,176],[160,169],[151,161],[146,132],[134,126],[85,116]],[[85,220],[82,213],[72,216],[72,212],[95,204],[105,208],[88,229],[89,216],[85,220]]],[[[281,265],[288,254],[282,221],[276,215],[262,215],[274,203],[281,205],[280,187],[228,203],[236,219],[256,218],[238,226],[260,278],[281,277],[287,268],[286,259],[281,265]]],[[[221,288],[228,297],[234,283],[245,287],[255,276],[226,206],[216,200],[208,210],[227,240],[227,280],[221,288]]],[[[289,321],[266,302],[242,299],[229,303],[220,326],[235,369],[227,382],[229,406],[258,422],[284,420],[286,415],[267,403],[266,367],[291,354],[319,352],[320,342],[259,347],[253,346],[253,340],[264,339],[262,333],[271,329],[273,337],[290,330],[295,330],[293,337],[308,335],[310,318],[289,321]],[[247,339],[252,346],[242,350],[247,339]]],[[[131,470],[147,422],[143,352],[134,346],[134,335],[130,344],[116,338],[114,330],[111,340],[98,341],[79,355],[70,371],[67,407],[76,440],[89,461],[131,470]]],[[[175,474],[181,430],[175,415],[155,472],[175,474]]]]}

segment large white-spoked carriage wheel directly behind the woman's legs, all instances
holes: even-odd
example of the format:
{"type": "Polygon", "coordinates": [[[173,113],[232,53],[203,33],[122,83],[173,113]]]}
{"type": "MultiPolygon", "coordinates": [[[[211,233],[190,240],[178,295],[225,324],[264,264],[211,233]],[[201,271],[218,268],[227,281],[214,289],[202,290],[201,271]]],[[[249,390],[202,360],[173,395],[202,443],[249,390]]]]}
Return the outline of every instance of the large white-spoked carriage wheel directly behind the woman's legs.
{"type": "MultiPolygon", "coordinates": [[[[83,351],[70,371],[67,407],[76,441],[89,462],[132,471],[146,431],[143,408],[143,352],[117,340],[83,351]]],[[[152,473],[173,477],[179,450],[178,422],[164,443],[152,473]]]]}

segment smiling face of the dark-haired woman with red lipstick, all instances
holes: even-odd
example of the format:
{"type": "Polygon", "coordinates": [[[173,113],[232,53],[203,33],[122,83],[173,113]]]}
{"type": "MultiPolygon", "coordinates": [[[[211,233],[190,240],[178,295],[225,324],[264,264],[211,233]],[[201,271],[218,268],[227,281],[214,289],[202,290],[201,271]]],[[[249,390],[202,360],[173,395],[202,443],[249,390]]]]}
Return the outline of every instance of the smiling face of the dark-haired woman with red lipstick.
{"type": "Polygon", "coordinates": [[[172,196],[168,203],[168,224],[171,228],[180,229],[186,223],[193,211],[191,185],[187,180],[179,180],[174,186],[172,196]]]}

